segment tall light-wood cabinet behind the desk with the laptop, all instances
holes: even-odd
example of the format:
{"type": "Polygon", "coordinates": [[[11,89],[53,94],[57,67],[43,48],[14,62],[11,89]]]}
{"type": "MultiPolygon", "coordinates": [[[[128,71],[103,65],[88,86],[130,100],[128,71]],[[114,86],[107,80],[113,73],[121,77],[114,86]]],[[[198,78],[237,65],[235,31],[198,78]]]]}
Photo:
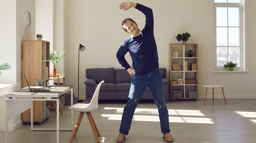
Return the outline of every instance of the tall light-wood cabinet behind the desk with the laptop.
{"type": "MultiPolygon", "coordinates": [[[[41,79],[46,85],[50,79],[50,42],[43,40],[23,40],[22,70],[29,85],[35,85],[35,79],[41,79]]],[[[22,87],[27,87],[23,77],[22,87]]],[[[23,122],[30,122],[31,109],[23,112],[23,122]]],[[[46,101],[33,101],[33,121],[41,123],[46,117],[46,101]]]]}

